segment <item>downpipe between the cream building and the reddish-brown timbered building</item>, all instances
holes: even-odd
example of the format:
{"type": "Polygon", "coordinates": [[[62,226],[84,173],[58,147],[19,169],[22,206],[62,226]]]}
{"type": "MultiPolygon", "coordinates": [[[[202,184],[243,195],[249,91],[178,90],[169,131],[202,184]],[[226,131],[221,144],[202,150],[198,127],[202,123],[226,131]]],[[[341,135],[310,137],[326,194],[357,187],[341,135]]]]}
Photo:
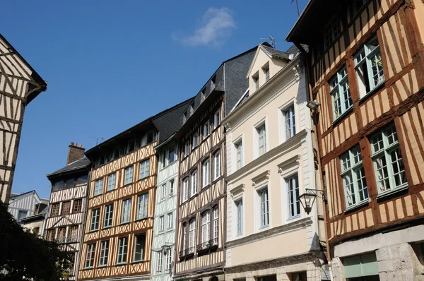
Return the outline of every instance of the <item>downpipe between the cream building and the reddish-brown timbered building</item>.
{"type": "MultiPolygon", "coordinates": [[[[300,52],[303,54],[303,56],[305,56],[306,61],[305,61],[305,67],[306,67],[306,78],[307,78],[307,92],[308,92],[308,96],[310,98],[310,100],[314,100],[312,97],[312,86],[310,84],[310,81],[312,81],[311,78],[311,72],[310,72],[310,60],[309,60],[309,54],[305,51],[305,49],[303,49],[302,45],[297,43],[297,42],[293,42],[293,44],[295,44],[296,47],[298,47],[298,49],[300,50],[300,52]]],[[[325,192],[324,190],[324,179],[322,177],[322,167],[321,167],[321,155],[319,155],[319,152],[321,151],[320,146],[319,146],[319,141],[317,138],[317,112],[312,112],[312,121],[314,123],[314,138],[315,138],[315,144],[317,145],[317,162],[318,162],[318,172],[319,172],[319,181],[320,181],[320,185],[322,188],[322,191],[325,192]]],[[[329,234],[328,234],[328,228],[327,228],[327,207],[326,207],[326,200],[325,197],[322,196],[322,207],[324,209],[324,230],[325,230],[325,241],[326,241],[326,255],[327,255],[327,262],[329,265],[329,272],[330,272],[330,280],[333,281],[333,269],[331,266],[331,254],[330,254],[330,246],[329,246],[329,234]]],[[[317,208],[318,208],[318,204],[317,204],[317,208]]],[[[318,226],[319,229],[319,226],[318,226]]]]}

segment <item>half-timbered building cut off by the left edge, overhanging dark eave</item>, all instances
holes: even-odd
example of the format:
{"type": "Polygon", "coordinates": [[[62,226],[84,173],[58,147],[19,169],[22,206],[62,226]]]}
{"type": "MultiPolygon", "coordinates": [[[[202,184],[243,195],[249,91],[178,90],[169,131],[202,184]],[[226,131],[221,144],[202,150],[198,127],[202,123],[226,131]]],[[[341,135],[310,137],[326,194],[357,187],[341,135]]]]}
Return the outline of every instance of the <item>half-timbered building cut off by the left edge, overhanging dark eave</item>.
{"type": "Polygon", "coordinates": [[[8,203],[25,106],[47,83],[0,34],[0,201],[8,203]]]}

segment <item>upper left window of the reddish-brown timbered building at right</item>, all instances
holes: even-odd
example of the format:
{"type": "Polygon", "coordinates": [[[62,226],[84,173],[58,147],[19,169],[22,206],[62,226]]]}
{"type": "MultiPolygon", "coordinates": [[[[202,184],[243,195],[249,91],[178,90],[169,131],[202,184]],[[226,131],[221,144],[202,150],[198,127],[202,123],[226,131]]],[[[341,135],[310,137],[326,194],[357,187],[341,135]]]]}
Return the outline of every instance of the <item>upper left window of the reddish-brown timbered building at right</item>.
{"type": "Polygon", "coordinates": [[[351,90],[349,90],[348,71],[343,66],[338,73],[329,80],[331,101],[333,102],[334,120],[345,113],[353,105],[351,90]]]}

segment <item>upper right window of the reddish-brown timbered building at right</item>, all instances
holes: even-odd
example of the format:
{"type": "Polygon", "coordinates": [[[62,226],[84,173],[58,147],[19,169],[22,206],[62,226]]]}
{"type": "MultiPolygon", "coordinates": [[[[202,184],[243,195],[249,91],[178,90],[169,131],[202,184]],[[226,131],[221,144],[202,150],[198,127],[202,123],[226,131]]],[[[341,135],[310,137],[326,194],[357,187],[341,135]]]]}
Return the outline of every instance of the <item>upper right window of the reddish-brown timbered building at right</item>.
{"type": "Polygon", "coordinates": [[[355,54],[356,80],[358,80],[359,97],[365,97],[384,82],[382,54],[377,36],[359,49],[355,54]]]}

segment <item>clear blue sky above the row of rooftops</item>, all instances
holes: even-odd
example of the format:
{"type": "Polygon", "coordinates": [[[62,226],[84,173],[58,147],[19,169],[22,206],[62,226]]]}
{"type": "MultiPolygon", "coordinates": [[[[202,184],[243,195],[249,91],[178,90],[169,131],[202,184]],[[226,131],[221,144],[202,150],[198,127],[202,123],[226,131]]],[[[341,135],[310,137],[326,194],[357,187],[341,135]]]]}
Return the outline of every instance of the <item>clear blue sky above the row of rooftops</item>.
{"type": "Polygon", "coordinates": [[[64,167],[71,142],[91,148],[192,97],[259,37],[288,49],[290,2],[4,2],[2,34],[48,82],[25,110],[12,191],[49,198],[45,174],[64,167]]]}

